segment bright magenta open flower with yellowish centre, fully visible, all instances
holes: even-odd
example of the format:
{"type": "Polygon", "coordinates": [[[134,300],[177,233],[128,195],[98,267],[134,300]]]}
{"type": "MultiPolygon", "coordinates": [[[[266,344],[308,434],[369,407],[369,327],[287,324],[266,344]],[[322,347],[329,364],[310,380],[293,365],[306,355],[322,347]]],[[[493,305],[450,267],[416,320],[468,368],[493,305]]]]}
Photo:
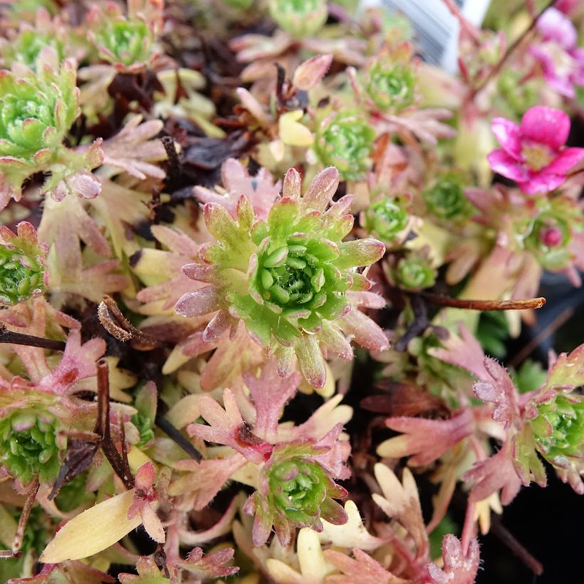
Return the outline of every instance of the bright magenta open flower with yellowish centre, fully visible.
{"type": "Polygon", "coordinates": [[[487,157],[491,169],[518,182],[526,194],[547,193],[565,182],[568,170],[584,158],[584,148],[563,148],[570,118],[561,110],[537,105],[517,125],[494,118],[491,129],[502,148],[487,157]]]}

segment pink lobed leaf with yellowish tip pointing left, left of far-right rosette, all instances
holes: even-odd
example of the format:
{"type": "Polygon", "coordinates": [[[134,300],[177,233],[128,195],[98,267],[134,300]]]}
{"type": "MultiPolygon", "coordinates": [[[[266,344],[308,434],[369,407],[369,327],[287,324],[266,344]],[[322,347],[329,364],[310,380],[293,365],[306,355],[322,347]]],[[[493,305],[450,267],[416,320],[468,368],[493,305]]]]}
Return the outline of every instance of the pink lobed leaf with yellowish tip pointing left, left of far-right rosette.
{"type": "Polygon", "coordinates": [[[450,419],[392,417],[385,420],[385,425],[403,434],[382,442],[377,447],[377,454],[390,458],[411,456],[410,466],[434,462],[474,429],[469,409],[462,410],[450,419]]]}

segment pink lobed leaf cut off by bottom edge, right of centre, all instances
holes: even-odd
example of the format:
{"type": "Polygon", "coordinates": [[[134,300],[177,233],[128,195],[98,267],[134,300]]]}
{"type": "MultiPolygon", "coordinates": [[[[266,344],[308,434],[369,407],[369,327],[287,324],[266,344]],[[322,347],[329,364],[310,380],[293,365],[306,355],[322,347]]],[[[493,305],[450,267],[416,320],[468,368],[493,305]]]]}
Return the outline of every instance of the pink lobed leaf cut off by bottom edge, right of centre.
{"type": "Polygon", "coordinates": [[[432,584],[471,584],[479,571],[479,542],[472,539],[464,553],[460,541],[448,533],[442,540],[442,559],[442,569],[434,563],[428,564],[432,584]]]}

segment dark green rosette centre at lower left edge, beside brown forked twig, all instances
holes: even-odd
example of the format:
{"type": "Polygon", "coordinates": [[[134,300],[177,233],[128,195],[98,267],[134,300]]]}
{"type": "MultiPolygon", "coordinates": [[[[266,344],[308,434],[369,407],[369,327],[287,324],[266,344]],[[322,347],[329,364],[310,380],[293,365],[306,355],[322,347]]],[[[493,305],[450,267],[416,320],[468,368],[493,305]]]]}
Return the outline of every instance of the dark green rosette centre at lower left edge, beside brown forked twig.
{"type": "Polygon", "coordinates": [[[64,448],[60,424],[53,414],[18,410],[0,419],[0,461],[11,474],[28,483],[57,478],[64,448]]]}

